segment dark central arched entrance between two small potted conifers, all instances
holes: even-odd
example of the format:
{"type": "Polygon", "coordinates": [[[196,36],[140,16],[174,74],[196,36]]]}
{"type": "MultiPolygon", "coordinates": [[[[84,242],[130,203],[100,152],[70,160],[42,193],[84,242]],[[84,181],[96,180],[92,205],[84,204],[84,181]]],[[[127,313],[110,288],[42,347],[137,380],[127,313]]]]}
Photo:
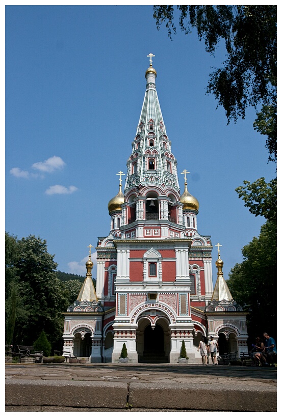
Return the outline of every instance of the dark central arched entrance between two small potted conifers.
{"type": "Polygon", "coordinates": [[[171,346],[167,320],[160,319],[153,327],[147,318],[139,320],[136,346],[139,363],[168,363],[171,346]]]}

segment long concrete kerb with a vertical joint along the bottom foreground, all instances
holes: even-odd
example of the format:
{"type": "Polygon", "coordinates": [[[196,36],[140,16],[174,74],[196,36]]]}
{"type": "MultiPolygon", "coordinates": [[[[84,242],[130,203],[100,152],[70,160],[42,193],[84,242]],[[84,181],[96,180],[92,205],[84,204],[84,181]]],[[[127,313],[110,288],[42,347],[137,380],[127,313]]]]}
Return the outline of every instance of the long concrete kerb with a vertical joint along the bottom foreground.
{"type": "Polygon", "coordinates": [[[276,411],[276,386],[232,380],[209,383],[7,380],[7,406],[210,411],[276,411]]]}

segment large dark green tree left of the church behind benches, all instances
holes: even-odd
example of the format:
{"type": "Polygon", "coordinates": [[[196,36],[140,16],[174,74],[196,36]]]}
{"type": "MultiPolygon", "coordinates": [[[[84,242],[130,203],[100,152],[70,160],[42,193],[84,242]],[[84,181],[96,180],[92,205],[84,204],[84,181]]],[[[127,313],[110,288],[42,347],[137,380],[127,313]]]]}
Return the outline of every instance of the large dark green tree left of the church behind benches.
{"type": "Polygon", "coordinates": [[[12,283],[17,292],[13,339],[18,344],[31,345],[44,330],[52,344],[60,344],[64,322],[61,312],[68,301],[57,276],[54,255],[48,254],[46,241],[39,237],[30,235],[16,242],[9,238],[7,303],[11,302],[12,283]],[[14,257],[9,255],[13,253],[10,247],[16,250],[14,257]]]}

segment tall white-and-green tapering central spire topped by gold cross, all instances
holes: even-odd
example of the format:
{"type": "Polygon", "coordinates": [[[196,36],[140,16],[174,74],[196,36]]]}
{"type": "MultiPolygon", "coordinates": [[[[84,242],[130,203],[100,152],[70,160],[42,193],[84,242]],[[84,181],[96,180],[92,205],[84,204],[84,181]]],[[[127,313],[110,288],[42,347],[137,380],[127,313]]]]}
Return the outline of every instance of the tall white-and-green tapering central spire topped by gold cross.
{"type": "Polygon", "coordinates": [[[155,183],[171,186],[179,193],[177,161],[171,152],[161,107],[156,90],[157,71],[150,66],[145,72],[146,91],[136,131],[133,149],[127,160],[127,176],[124,192],[132,186],[155,183]]]}

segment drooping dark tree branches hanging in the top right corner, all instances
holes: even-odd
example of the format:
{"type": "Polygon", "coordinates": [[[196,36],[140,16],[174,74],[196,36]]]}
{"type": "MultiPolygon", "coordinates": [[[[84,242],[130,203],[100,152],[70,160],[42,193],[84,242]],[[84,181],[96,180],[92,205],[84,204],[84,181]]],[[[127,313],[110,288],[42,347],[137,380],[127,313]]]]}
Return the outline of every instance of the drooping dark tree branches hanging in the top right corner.
{"type": "Polygon", "coordinates": [[[222,105],[228,123],[245,118],[246,108],[262,106],[254,128],[266,135],[269,160],[276,160],[277,7],[270,6],[154,6],[157,28],[165,23],[168,36],[176,33],[178,14],[185,34],[195,28],[207,52],[225,43],[226,60],[210,74],[207,93],[222,105]]]}

